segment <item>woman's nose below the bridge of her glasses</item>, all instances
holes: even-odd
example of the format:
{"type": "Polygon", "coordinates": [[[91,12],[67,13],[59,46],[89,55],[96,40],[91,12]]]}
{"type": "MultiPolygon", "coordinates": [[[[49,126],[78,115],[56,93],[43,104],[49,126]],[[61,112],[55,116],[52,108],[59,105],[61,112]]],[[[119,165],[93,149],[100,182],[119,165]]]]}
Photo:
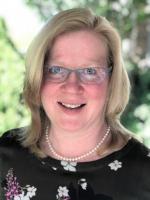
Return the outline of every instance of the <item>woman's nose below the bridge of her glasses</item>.
{"type": "Polygon", "coordinates": [[[83,92],[83,86],[75,71],[70,72],[67,80],[63,83],[62,88],[68,93],[78,94],[83,92]]]}

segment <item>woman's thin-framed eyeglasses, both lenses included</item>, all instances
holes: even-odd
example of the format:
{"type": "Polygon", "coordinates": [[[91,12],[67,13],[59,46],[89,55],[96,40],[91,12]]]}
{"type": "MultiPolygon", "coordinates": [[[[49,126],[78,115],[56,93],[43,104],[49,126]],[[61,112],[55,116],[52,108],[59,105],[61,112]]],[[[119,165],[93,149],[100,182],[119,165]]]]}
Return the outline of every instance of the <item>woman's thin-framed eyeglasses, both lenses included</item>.
{"type": "Polygon", "coordinates": [[[62,83],[69,75],[75,72],[78,79],[85,84],[100,84],[112,72],[112,67],[86,67],[80,69],[69,69],[61,66],[46,66],[44,80],[52,83],[62,83]]]}

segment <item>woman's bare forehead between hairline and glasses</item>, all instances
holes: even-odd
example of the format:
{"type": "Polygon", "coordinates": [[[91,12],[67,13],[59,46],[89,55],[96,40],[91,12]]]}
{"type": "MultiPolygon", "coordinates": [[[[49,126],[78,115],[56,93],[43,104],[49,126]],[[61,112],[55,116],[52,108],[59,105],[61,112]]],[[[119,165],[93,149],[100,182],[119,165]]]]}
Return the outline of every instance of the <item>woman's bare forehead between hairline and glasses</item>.
{"type": "Polygon", "coordinates": [[[93,31],[75,31],[58,36],[50,51],[50,61],[86,62],[105,61],[108,48],[104,38],[93,31]]]}

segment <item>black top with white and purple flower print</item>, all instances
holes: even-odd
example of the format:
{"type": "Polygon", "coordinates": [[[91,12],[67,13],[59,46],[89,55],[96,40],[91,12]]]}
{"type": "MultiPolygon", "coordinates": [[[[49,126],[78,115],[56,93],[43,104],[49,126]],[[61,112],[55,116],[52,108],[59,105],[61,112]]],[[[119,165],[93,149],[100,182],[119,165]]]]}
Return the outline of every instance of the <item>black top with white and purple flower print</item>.
{"type": "Polygon", "coordinates": [[[150,153],[135,139],[76,163],[37,158],[17,142],[18,130],[0,139],[0,200],[150,200],[150,153]]]}

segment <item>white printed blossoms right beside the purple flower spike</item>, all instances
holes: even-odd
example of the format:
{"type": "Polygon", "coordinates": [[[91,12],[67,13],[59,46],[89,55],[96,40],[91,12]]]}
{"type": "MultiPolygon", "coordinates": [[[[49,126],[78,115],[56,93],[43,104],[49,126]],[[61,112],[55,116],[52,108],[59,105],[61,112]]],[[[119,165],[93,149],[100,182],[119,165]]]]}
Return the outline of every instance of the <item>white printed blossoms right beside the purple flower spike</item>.
{"type": "Polygon", "coordinates": [[[25,188],[22,188],[21,194],[14,197],[14,200],[30,200],[36,195],[36,190],[35,187],[27,185],[25,188]]]}

